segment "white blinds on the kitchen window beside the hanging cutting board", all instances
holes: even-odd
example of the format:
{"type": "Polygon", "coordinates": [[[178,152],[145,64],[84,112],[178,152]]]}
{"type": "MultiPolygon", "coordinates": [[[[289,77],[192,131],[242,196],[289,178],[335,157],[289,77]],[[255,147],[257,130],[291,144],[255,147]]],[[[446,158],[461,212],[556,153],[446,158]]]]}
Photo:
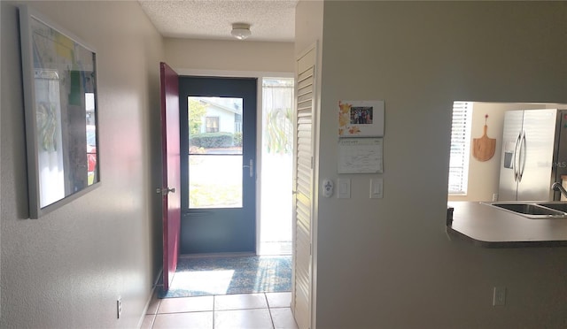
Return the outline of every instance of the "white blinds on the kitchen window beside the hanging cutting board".
{"type": "Polygon", "coordinates": [[[453,126],[451,128],[451,154],[449,160],[449,194],[467,194],[471,118],[472,103],[453,103],[453,126]]]}

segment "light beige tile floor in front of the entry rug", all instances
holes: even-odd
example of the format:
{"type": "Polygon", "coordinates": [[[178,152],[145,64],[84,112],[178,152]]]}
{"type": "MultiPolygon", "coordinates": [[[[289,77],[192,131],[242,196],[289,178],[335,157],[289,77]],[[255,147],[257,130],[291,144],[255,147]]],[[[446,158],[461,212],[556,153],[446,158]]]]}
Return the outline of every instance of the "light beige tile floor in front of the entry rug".
{"type": "Polygon", "coordinates": [[[152,297],[142,329],[297,329],[291,293],[152,297]]]}

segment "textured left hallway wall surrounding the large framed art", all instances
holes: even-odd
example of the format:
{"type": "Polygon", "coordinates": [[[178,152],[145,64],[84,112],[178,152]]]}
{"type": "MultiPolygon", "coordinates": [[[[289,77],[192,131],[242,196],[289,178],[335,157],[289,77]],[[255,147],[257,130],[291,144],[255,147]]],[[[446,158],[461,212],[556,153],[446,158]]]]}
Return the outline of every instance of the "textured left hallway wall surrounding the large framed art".
{"type": "Polygon", "coordinates": [[[97,50],[102,184],[28,219],[18,11],[2,1],[0,326],[136,327],[161,262],[159,196],[151,191],[162,38],[136,2],[27,4],[97,50]]]}

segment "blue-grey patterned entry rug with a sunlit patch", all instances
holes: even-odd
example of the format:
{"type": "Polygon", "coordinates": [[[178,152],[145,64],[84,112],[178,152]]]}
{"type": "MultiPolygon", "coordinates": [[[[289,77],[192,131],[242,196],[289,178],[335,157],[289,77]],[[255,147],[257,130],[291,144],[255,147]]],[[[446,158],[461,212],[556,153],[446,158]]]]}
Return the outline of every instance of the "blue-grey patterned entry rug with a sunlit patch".
{"type": "Polygon", "coordinates": [[[291,256],[180,257],[159,298],[291,291],[291,256]]]}

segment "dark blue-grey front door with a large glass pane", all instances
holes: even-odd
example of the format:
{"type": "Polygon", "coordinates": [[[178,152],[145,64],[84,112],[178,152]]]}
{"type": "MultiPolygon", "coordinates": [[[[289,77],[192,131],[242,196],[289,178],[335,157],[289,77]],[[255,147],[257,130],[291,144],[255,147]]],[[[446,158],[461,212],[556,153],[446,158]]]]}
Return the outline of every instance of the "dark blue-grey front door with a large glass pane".
{"type": "Polygon", "coordinates": [[[256,83],[179,79],[181,254],[256,251],[256,83]]]}

